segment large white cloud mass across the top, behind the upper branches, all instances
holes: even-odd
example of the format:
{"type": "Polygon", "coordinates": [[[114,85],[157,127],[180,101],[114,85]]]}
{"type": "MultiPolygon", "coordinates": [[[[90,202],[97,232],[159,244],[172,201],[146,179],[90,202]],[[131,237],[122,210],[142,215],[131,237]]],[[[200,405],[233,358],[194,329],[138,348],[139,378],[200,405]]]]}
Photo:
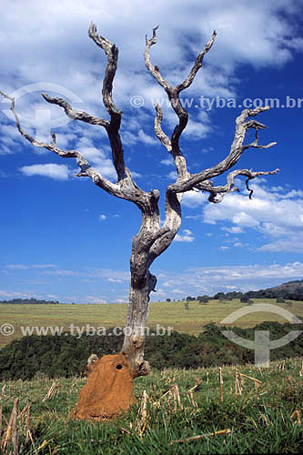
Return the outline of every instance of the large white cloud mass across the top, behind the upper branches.
{"type": "MultiPolygon", "coordinates": [[[[217,0],[216,3],[212,0],[203,3],[188,0],[187,5],[182,2],[174,5],[174,21],[171,20],[171,5],[162,0],[155,0],[152,4],[146,0],[113,0],[110,3],[78,0],[76,7],[71,0],[54,0],[49,5],[38,0],[26,5],[3,0],[2,6],[0,43],[5,45],[0,46],[0,56],[5,61],[3,90],[12,93],[28,84],[52,81],[57,86],[57,95],[62,96],[60,92],[69,89],[82,102],[82,106],[77,108],[107,118],[100,93],[105,56],[86,35],[93,12],[98,31],[120,48],[114,91],[118,107],[132,114],[136,112],[141,125],[142,117],[150,120],[155,115],[155,99],[165,96],[155,81],[146,76],[142,59],[145,35],[152,33],[159,17],[161,28],[157,46],[152,49],[152,58],[171,84],[179,84],[187,76],[195,55],[204,47],[212,31],[217,30],[211,59],[207,56],[207,66],[187,91],[189,96],[234,96],[238,64],[281,66],[292,58],[292,52],[303,49],[303,39],[289,19],[300,11],[295,0],[255,0],[254,3],[243,0],[233,4],[232,8],[226,0],[217,0]],[[35,21],[32,21],[33,16],[35,21]],[[143,96],[144,107],[132,107],[130,100],[133,96],[143,96]]],[[[27,96],[23,97],[27,100],[28,115],[33,116],[33,104],[29,104],[27,96]]],[[[45,109],[45,103],[39,106],[45,109]]],[[[38,105],[34,107],[34,112],[39,111],[38,105]]],[[[57,106],[47,105],[47,109],[51,110],[52,116],[53,112],[57,116],[57,106]]],[[[164,109],[167,111],[166,106],[164,109]]],[[[190,119],[185,136],[207,136],[211,128],[206,114],[200,115],[200,118],[190,119]]],[[[176,120],[172,111],[166,112],[168,125],[176,125],[176,120]]],[[[142,126],[136,129],[137,133],[130,123],[123,127],[128,133],[125,140],[129,144],[141,141],[148,146],[157,142],[142,126]]],[[[8,130],[5,135],[15,140],[8,130]]],[[[8,153],[8,149],[3,147],[2,152],[8,153]]]]}

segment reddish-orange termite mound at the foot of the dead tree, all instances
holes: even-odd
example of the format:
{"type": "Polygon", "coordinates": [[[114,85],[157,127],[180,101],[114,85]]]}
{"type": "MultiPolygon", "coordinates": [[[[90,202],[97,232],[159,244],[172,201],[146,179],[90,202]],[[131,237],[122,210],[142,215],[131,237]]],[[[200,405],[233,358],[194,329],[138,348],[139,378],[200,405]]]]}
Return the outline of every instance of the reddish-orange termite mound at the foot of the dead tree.
{"type": "Polygon", "coordinates": [[[90,370],[71,417],[112,419],[135,403],[133,378],[124,355],[104,356],[96,360],[90,370]]]}

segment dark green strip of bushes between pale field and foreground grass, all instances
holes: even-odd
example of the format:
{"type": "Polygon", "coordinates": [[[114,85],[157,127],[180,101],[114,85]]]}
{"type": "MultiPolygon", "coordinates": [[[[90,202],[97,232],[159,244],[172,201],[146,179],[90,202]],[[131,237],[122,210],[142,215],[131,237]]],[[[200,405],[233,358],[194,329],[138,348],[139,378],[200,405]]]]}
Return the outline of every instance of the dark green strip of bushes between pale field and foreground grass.
{"type": "MultiPolygon", "coordinates": [[[[220,365],[244,365],[254,361],[254,350],[238,346],[222,333],[224,327],[207,324],[199,335],[172,332],[169,336],[146,337],[146,359],[153,369],[198,369],[220,365]]],[[[253,329],[230,328],[243,339],[255,339],[255,330],[268,330],[270,339],[280,339],[301,324],[263,322],[253,329]]],[[[113,336],[83,335],[81,338],[65,333],[61,336],[32,336],[15,340],[0,350],[0,379],[33,379],[37,374],[48,378],[81,375],[88,357],[117,353],[123,334],[113,336]]],[[[303,334],[291,343],[270,351],[271,359],[303,357],[303,334]]]]}

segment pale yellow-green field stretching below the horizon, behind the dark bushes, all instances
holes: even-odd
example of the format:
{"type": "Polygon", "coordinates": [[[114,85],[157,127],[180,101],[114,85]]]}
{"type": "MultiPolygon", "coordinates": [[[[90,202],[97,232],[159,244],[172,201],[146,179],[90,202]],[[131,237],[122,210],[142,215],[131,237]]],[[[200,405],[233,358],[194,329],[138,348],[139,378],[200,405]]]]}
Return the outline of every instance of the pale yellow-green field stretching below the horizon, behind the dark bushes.
{"type": "MultiPolygon", "coordinates": [[[[276,299],[254,299],[255,303],[276,304],[276,299]]],[[[200,305],[197,301],[189,302],[189,309],[185,302],[152,302],[149,306],[148,326],[155,327],[161,324],[164,327],[173,327],[184,333],[197,334],[203,326],[213,321],[219,323],[233,311],[242,308],[245,304],[238,299],[226,303],[211,300],[207,305],[200,305]]],[[[303,318],[303,302],[292,302],[292,306],[278,304],[293,315],[303,318]]],[[[100,304],[100,305],[0,305],[0,326],[12,324],[15,328],[13,335],[0,334],[0,348],[13,339],[21,338],[20,327],[124,327],[126,319],[126,304],[100,304]]],[[[234,323],[239,327],[254,327],[262,321],[287,322],[283,317],[274,313],[255,312],[244,316],[234,323]]]]}

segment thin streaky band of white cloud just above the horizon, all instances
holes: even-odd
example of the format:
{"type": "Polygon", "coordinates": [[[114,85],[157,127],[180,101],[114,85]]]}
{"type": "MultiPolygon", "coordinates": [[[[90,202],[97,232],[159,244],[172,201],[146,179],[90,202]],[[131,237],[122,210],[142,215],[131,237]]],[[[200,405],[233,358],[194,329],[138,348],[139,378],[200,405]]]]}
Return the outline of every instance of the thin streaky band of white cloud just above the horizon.
{"type": "MultiPolygon", "coordinates": [[[[83,269],[62,269],[53,264],[28,265],[28,264],[11,264],[7,268],[10,274],[32,279],[41,276],[52,277],[51,286],[54,287],[54,279],[66,278],[73,283],[73,280],[79,282],[82,278],[84,282],[100,284],[100,289],[96,290],[96,300],[100,295],[103,295],[107,301],[116,301],[116,298],[108,298],[105,296],[106,291],[102,290],[106,283],[116,283],[116,286],[125,286],[129,281],[129,272],[126,270],[114,270],[109,268],[83,268],[83,269]],[[101,279],[100,279],[101,278],[101,279]],[[98,296],[99,293],[99,296],[98,296]]],[[[157,275],[159,288],[165,289],[165,295],[170,298],[185,298],[188,295],[213,295],[218,291],[228,291],[230,289],[247,291],[249,289],[257,290],[259,288],[270,288],[272,286],[287,282],[293,279],[301,279],[303,276],[302,262],[288,262],[286,264],[278,264],[268,262],[267,264],[255,264],[247,266],[237,265],[222,265],[217,267],[198,267],[187,268],[184,270],[157,270],[153,273],[157,275]]],[[[16,281],[18,282],[18,281],[16,281]]],[[[47,294],[50,292],[48,291],[47,294]]],[[[127,291],[125,290],[126,299],[127,291]]],[[[4,298],[25,298],[35,297],[35,292],[29,292],[28,289],[21,292],[19,288],[15,290],[9,288],[1,288],[0,296],[4,298]]],[[[44,295],[45,296],[45,295],[44,295]]],[[[39,297],[44,297],[40,295],[39,297]]],[[[70,295],[58,297],[60,301],[76,301],[85,303],[87,301],[95,301],[92,294],[77,296],[70,295]],[[90,296],[90,298],[88,298],[90,296]]],[[[123,296],[119,296],[119,298],[123,296]]],[[[157,294],[152,294],[151,298],[157,300],[157,294]]],[[[127,300],[126,300],[127,301],[127,300]]]]}

